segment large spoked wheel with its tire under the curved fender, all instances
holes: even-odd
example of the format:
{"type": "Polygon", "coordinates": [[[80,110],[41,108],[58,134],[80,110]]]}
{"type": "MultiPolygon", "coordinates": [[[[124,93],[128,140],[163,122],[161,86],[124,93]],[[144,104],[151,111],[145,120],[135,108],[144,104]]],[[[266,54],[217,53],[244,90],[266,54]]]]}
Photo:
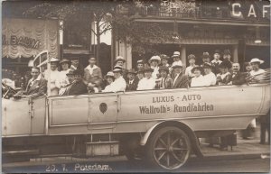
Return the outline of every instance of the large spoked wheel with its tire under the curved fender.
{"type": "Polygon", "coordinates": [[[190,139],[177,127],[164,127],[154,133],[149,141],[147,160],[163,169],[179,169],[191,153],[190,139]]]}

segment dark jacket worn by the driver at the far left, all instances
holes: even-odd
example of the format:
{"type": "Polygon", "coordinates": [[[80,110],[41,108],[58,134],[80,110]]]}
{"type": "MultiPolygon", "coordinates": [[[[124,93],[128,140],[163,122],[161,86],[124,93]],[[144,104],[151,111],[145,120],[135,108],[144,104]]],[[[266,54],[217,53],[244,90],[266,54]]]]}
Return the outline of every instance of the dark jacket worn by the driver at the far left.
{"type": "Polygon", "coordinates": [[[47,92],[47,80],[44,78],[40,78],[39,80],[35,80],[33,82],[33,85],[30,86],[31,79],[28,81],[26,90],[23,92],[23,94],[28,96],[43,96],[46,95],[47,92]]]}

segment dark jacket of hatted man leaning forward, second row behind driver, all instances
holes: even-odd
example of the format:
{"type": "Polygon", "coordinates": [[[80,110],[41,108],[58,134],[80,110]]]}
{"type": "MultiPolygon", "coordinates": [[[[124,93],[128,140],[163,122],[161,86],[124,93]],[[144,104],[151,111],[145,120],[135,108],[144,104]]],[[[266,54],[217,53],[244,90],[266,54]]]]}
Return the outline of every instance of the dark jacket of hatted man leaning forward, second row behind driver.
{"type": "Polygon", "coordinates": [[[66,88],[66,91],[63,93],[63,96],[73,96],[73,95],[83,95],[87,94],[87,86],[83,80],[72,82],[69,87],[66,88]]]}

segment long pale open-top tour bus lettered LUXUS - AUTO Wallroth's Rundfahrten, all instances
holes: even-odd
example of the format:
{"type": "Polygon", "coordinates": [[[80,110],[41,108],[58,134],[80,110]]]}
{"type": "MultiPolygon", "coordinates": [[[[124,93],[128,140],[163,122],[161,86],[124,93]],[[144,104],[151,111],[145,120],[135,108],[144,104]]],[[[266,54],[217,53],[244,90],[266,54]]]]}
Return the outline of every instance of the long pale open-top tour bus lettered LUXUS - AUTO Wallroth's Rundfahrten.
{"type": "Polygon", "coordinates": [[[202,157],[198,138],[246,129],[269,110],[270,83],[3,98],[3,160],[125,154],[179,169],[202,157]]]}

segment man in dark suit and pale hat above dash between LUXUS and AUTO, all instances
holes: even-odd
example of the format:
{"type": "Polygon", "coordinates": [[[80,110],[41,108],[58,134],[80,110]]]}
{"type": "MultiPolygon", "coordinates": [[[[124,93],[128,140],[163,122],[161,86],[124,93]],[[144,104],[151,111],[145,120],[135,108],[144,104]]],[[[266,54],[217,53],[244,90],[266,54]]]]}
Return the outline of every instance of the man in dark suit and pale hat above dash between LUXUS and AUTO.
{"type": "Polygon", "coordinates": [[[173,88],[187,88],[189,87],[189,78],[182,72],[182,64],[173,62],[173,88]]]}

